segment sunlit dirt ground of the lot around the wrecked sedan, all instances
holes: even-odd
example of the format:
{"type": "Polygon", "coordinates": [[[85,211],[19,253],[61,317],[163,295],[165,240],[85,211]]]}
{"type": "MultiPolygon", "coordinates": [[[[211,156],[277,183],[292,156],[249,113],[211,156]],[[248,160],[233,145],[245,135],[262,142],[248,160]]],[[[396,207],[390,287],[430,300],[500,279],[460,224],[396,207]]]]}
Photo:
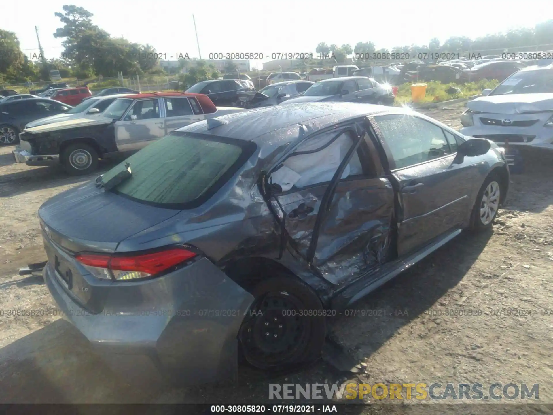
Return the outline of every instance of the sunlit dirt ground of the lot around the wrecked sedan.
{"type": "MultiPolygon", "coordinates": [[[[460,128],[462,110],[457,104],[421,112],[460,128]]],[[[0,147],[0,403],[267,402],[269,381],[255,373],[246,372],[238,385],[137,386],[92,354],[79,332],[54,315],[42,279],[18,276],[20,267],[45,259],[38,207],[92,177],[16,164],[12,149],[0,147]],[[41,311],[13,317],[10,309],[41,311]]],[[[385,310],[385,317],[359,314],[332,323],[335,338],[365,373],[344,375],[321,362],[271,382],[539,383],[538,403],[553,403],[552,165],[541,155],[526,158],[526,172],[512,175],[491,234],[462,234],[356,305],[385,310]]],[[[404,413],[406,407],[354,412],[404,413]]]]}

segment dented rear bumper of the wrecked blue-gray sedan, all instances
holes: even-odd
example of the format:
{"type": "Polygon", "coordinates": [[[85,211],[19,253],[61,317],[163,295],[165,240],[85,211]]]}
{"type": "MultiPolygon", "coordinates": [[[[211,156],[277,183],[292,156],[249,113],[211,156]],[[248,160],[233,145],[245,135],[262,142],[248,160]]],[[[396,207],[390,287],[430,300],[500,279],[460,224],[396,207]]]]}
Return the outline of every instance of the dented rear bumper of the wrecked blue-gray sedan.
{"type": "Polygon", "coordinates": [[[253,297],[207,259],[149,281],[102,282],[109,293],[96,314],[74,301],[51,261],[43,275],[64,318],[121,375],[185,385],[236,378],[238,330],[253,297]]]}

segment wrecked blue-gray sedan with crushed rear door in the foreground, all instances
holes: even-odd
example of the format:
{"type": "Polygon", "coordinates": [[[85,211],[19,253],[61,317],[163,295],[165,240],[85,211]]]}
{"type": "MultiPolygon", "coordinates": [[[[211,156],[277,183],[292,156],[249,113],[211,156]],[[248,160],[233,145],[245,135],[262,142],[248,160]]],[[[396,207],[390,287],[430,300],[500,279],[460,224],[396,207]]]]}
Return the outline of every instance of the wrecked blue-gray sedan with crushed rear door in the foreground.
{"type": "Polygon", "coordinates": [[[329,317],[505,200],[502,149],[400,108],[179,128],[39,209],[44,278],[118,370],[180,382],[317,359],[329,317]]]}

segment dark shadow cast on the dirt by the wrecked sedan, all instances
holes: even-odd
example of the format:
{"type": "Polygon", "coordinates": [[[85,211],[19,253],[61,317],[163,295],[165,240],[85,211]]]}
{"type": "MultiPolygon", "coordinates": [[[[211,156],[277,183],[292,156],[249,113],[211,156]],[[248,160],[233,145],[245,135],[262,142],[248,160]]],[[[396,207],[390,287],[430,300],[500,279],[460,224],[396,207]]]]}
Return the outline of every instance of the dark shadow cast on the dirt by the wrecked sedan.
{"type": "MultiPolygon", "coordinates": [[[[338,317],[331,322],[333,338],[349,352],[354,362],[371,356],[401,327],[425,313],[461,281],[491,235],[492,232],[460,235],[415,264],[352,307],[388,310],[390,318],[338,317]],[[401,310],[401,314],[393,315],[393,310],[401,310]],[[348,331],[356,333],[347,336],[353,339],[353,344],[341,342],[348,331]]],[[[309,367],[270,375],[241,367],[238,382],[194,387],[158,382],[143,385],[138,379],[122,378],[111,371],[84,336],[61,319],[4,346],[0,349],[0,362],[0,378],[10,380],[2,382],[0,388],[0,402],[3,403],[332,404],[335,402],[326,400],[270,401],[269,384],[341,383],[359,376],[337,370],[321,360],[309,367]]],[[[359,376],[354,381],[362,380],[359,376]]],[[[345,413],[372,413],[361,403],[347,405],[345,413]]],[[[119,413],[112,409],[113,413],[119,413]]]]}

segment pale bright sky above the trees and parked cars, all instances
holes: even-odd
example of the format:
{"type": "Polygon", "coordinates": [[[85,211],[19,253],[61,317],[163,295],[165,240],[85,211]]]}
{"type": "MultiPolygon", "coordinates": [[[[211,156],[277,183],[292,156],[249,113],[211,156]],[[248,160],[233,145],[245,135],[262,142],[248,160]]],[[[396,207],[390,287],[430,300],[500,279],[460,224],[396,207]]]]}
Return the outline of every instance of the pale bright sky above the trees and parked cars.
{"type": "MultiPolygon", "coordinates": [[[[25,54],[38,54],[35,25],[46,58],[58,58],[61,40],[53,36],[62,24],[55,12],[64,4],[84,7],[92,22],[113,37],[153,45],[158,53],[198,57],[192,14],[203,59],[210,53],[315,53],[328,45],[373,42],[377,49],[410,44],[443,43],[452,36],[477,38],[509,29],[530,27],[553,16],[553,2],[526,0],[348,0],[252,1],[232,0],[152,2],[135,0],[79,2],[5,1],[0,28],[15,32],[25,54]],[[32,7],[30,7],[32,6],[32,7]],[[538,12],[539,11],[539,12],[538,12]]],[[[252,66],[259,61],[252,61],[252,66]]]]}

